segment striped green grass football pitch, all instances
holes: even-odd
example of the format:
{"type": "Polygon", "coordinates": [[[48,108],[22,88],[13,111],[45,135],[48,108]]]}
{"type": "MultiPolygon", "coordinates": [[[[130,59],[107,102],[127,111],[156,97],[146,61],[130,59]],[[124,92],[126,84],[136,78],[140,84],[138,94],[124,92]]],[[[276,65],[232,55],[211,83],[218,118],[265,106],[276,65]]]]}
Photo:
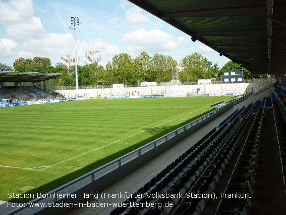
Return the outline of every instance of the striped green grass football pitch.
{"type": "Polygon", "coordinates": [[[231,100],[94,99],[1,108],[0,200],[51,191],[231,100]]]}

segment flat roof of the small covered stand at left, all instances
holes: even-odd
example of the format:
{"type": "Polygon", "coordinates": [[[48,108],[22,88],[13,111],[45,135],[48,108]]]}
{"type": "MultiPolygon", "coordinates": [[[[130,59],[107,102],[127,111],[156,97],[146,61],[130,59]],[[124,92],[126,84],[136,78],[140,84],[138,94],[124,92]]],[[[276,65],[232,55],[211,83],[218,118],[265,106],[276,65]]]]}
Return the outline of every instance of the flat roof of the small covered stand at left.
{"type": "Polygon", "coordinates": [[[39,82],[62,76],[62,73],[0,71],[0,82],[39,82]]]}

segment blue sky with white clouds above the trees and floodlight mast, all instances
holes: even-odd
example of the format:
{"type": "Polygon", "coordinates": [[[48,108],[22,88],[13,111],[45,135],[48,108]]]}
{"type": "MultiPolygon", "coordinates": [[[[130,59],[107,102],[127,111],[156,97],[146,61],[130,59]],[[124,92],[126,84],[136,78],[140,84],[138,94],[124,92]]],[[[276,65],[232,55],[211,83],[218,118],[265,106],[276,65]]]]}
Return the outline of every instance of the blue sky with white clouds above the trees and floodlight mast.
{"type": "Polygon", "coordinates": [[[135,58],[143,51],[169,55],[178,63],[193,52],[219,67],[230,61],[127,0],[0,0],[0,8],[0,63],[9,66],[20,57],[48,57],[55,66],[61,56],[74,56],[71,17],[79,17],[79,65],[91,48],[101,51],[103,66],[120,53],[135,58]]]}

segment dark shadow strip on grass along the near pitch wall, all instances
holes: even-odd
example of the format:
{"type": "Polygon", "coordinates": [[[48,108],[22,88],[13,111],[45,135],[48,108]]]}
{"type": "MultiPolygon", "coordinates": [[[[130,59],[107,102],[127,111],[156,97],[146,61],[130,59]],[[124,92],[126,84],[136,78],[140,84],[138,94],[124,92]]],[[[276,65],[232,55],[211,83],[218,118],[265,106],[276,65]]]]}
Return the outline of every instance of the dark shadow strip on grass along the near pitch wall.
{"type": "MultiPolygon", "coordinates": [[[[162,136],[164,136],[164,135],[166,135],[166,134],[168,134],[170,132],[173,132],[177,128],[182,127],[185,124],[187,124],[187,123],[189,123],[191,121],[194,121],[195,119],[200,118],[201,116],[206,115],[209,112],[214,111],[215,109],[216,108],[212,108],[209,111],[206,111],[206,112],[204,112],[202,114],[199,114],[199,115],[197,115],[197,116],[195,116],[195,117],[193,117],[191,119],[188,119],[188,120],[186,120],[184,122],[181,122],[180,124],[175,125],[175,126],[164,126],[164,127],[155,127],[155,128],[152,128],[152,129],[146,129],[146,132],[148,132],[150,134],[153,134],[154,136],[152,136],[152,137],[150,137],[150,138],[148,138],[146,140],[143,140],[143,141],[141,141],[139,143],[136,143],[136,144],[134,144],[132,146],[129,146],[129,147],[127,147],[127,148],[125,148],[125,149],[123,149],[121,151],[113,153],[113,154],[111,154],[111,155],[109,155],[109,156],[107,156],[107,157],[105,157],[103,159],[100,159],[100,160],[98,160],[98,161],[96,161],[94,163],[91,163],[91,164],[85,166],[84,168],[81,168],[79,170],[74,171],[73,173],[65,175],[65,176],[63,176],[63,177],[61,177],[59,179],[56,179],[56,180],[54,180],[52,182],[44,184],[44,185],[42,185],[42,186],[40,186],[40,187],[38,187],[36,189],[30,190],[30,191],[25,192],[25,193],[26,194],[32,194],[33,193],[35,196],[37,196],[37,193],[41,193],[41,194],[47,193],[47,192],[49,192],[49,191],[51,191],[51,190],[53,190],[55,188],[58,188],[58,187],[66,184],[66,183],[68,183],[68,182],[70,182],[70,181],[72,181],[72,180],[74,180],[74,179],[76,179],[76,178],[78,178],[80,176],[83,176],[84,174],[88,173],[89,171],[92,171],[92,170],[94,170],[94,169],[96,169],[96,168],[98,168],[98,167],[100,167],[100,166],[102,166],[102,165],[112,161],[112,160],[115,160],[115,159],[117,159],[117,158],[119,158],[119,157],[129,153],[129,152],[132,152],[133,150],[138,149],[141,146],[144,146],[145,144],[152,142],[153,140],[156,140],[156,139],[158,139],[158,138],[160,138],[160,137],[162,137],[162,136]]],[[[11,199],[9,201],[25,203],[25,202],[28,202],[28,201],[30,201],[32,199],[33,198],[13,198],[13,199],[11,199]]]]}

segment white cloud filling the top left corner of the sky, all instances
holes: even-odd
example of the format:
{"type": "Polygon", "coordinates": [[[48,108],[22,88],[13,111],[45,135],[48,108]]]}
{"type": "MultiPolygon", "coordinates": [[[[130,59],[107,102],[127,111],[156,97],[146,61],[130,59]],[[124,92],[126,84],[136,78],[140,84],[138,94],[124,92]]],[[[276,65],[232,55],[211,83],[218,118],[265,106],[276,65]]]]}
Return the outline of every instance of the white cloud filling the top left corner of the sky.
{"type": "Polygon", "coordinates": [[[0,22],[19,22],[33,15],[32,0],[11,0],[10,3],[0,1],[0,22]]]}

